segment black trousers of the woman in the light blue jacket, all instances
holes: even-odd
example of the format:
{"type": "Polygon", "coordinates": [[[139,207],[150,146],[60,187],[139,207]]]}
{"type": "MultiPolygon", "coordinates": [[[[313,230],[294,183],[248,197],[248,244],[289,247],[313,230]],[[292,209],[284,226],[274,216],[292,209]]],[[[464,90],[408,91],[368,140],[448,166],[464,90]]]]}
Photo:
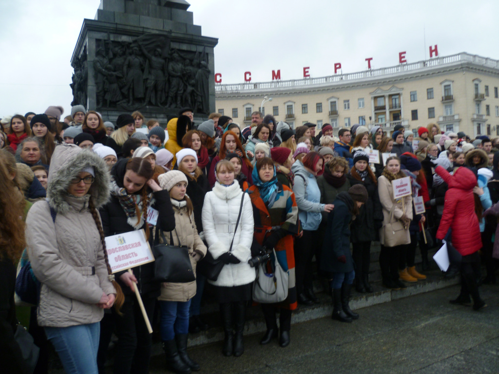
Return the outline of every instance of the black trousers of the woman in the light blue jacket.
{"type": "Polygon", "coordinates": [[[298,295],[303,293],[304,289],[312,288],[312,258],[315,254],[317,254],[317,262],[320,258],[321,248],[318,248],[318,241],[316,230],[303,230],[301,238],[294,240],[294,269],[298,295]]]}

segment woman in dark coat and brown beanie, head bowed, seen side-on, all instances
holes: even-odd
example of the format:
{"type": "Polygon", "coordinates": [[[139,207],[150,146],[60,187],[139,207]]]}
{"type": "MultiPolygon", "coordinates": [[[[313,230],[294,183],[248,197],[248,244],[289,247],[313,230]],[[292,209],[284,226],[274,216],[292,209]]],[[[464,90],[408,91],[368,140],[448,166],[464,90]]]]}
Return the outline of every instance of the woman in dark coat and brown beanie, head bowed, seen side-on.
{"type": "Polygon", "coordinates": [[[352,312],[348,301],[355,271],[350,253],[350,221],[368,199],[367,190],[355,185],[348,192],[340,192],[334,200],[334,209],[327,215],[326,237],[320,257],[321,270],[328,273],[333,290],[332,318],[341,322],[352,322],[359,315],[352,312]]]}

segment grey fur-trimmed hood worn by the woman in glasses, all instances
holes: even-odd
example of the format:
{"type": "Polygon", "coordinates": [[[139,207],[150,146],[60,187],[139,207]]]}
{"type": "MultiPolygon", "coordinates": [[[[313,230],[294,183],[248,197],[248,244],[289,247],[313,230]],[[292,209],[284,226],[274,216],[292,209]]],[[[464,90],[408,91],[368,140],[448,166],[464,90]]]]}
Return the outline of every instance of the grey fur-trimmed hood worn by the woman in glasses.
{"type": "Polygon", "coordinates": [[[65,214],[69,211],[69,203],[65,199],[67,188],[70,181],[87,167],[94,168],[95,181],[89,192],[98,209],[107,202],[110,193],[111,178],[104,160],[92,151],[82,150],[74,144],[55,147],[48,173],[47,196],[48,203],[57,213],[65,214]]]}

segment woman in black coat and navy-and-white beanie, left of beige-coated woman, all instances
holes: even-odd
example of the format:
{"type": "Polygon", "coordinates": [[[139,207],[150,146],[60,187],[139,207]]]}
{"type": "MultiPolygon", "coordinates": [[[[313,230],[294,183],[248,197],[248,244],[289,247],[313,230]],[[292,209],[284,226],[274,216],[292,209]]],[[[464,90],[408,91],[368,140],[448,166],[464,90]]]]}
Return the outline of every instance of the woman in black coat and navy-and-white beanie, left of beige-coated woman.
{"type": "Polygon", "coordinates": [[[359,214],[350,225],[355,263],[355,289],[357,292],[373,292],[369,284],[369,266],[371,264],[371,242],[379,240],[378,230],[383,224],[383,210],[378,196],[378,182],[369,168],[369,155],[364,151],[353,154],[353,167],[347,175],[350,186],[366,187],[369,199],[359,208],[359,214]]]}

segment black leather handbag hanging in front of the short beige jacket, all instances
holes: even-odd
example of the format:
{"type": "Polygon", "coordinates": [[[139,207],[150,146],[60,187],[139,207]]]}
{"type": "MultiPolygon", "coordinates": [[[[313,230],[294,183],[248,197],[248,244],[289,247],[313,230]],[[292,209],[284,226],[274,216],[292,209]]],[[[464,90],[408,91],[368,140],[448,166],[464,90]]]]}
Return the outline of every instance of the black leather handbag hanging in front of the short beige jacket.
{"type": "MultiPolygon", "coordinates": [[[[181,245],[177,230],[175,230],[179,245],[167,244],[163,231],[156,225],[156,237],[154,238],[153,254],[154,281],[167,283],[189,283],[196,280],[192,270],[189,247],[181,245]],[[163,244],[159,244],[159,237],[162,237],[163,244]]],[[[173,243],[173,235],[170,231],[170,243],[173,243]]]]}

